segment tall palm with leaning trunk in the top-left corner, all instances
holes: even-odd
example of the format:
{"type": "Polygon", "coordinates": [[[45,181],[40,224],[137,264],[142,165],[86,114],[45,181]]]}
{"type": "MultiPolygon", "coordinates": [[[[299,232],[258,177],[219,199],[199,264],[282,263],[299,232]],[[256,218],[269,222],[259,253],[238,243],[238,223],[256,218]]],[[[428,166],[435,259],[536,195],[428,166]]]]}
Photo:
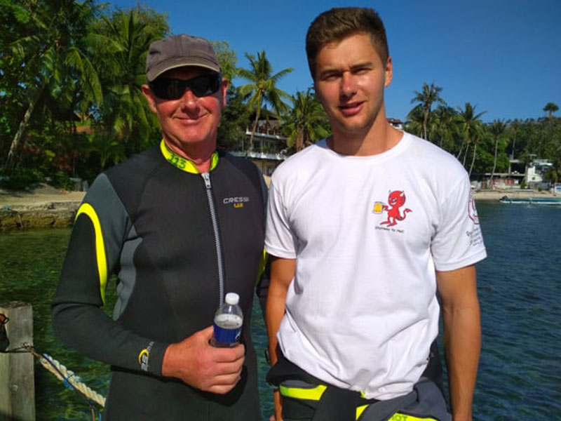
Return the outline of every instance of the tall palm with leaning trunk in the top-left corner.
{"type": "Polygon", "coordinates": [[[99,11],[94,1],[22,0],[18,4],[25,12],[14,13],[13,35],[1,63],[10,83],[8,95],[19,97],[22,106],[6,171],[17,161],[32,116],[49,113],[68,120],[79,103],[102,100],[85,41],[99,11]]]}

